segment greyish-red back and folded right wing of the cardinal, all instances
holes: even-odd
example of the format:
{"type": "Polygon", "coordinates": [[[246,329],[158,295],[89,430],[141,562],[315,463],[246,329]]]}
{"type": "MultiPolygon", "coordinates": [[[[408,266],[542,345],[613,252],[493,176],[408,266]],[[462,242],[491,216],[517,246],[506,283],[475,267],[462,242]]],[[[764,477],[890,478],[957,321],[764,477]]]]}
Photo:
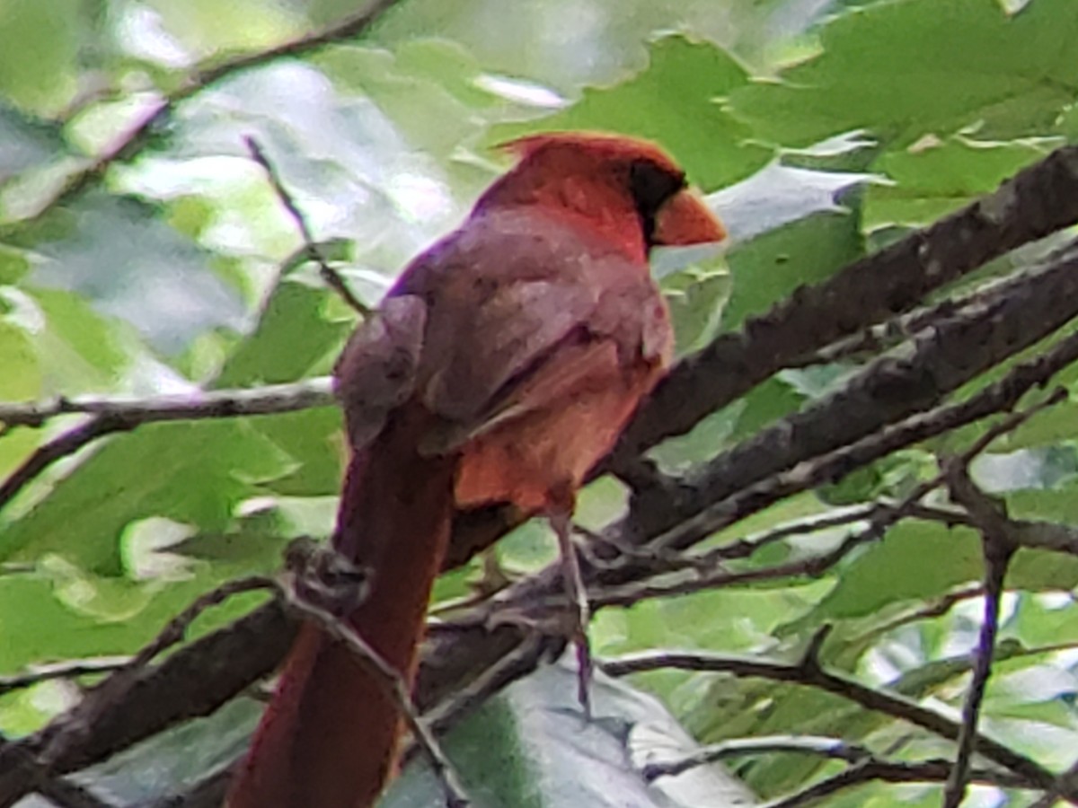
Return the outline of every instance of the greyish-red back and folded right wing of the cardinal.
{"type": "Polygon", "coordinates": [[[427,303],[416,390],[441,419],[428,451],[549,406],[596,362],[667,352],[647,265],[535,213],[473,220],[395,294],[427,303]]]}

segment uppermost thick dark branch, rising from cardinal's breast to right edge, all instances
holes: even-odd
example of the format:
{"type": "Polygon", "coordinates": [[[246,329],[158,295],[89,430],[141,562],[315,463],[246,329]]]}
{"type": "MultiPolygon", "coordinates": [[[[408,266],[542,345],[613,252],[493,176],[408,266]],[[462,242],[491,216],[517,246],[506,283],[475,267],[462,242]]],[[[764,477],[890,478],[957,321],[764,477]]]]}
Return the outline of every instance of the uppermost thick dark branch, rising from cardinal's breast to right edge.
{"type": "Polygon", "coordinates": [[[932,290],[1076,220],[1078,147],[1065,147],[994,194],[818,285],[802,287],[748,320],[743,332],[724,334],[682,362],[633,421],[609,468],[689,431],[806,354],[907,311],[932,290]]]}

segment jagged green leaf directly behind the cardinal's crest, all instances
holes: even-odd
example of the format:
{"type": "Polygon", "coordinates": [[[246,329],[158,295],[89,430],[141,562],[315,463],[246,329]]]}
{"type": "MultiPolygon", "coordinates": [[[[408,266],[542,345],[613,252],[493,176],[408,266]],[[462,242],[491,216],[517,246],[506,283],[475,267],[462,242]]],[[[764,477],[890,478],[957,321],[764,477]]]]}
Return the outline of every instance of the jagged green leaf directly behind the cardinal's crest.
{"type": "Polygon", "coordinates": [[[649,66],[612,87],[585,89],[567,110],[526,124],[498,126],[500,142],[551,129],[606,129],[663,144],[703,189],[736,182],[761,168],[770,150],[718,99],[748,81],[745,69],[710,44],[667,37],[651,46],[649,66]]]}

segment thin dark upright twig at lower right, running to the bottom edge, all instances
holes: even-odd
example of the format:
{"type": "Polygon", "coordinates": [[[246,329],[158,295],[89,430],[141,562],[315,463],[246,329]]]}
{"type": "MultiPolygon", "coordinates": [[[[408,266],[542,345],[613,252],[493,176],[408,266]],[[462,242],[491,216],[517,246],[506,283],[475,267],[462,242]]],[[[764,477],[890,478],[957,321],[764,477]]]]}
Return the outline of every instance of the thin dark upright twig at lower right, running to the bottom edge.
{"type": "Polygon", "coordinates": [[[1011,538],[1007,517],[999,505],[980,491],[969,478],[966,458],[945,463],[951,497],[962,504],[981,531],[984,547],[984,617],[977,641],[976,663],[962,708],[962,735],[958,736],[958,754],[943,790],[943,808],[958,808],[966,796],[970,763],[977,749],[977,723],[984,699],[984,687],[992,673],[992,658],[999,627],[999,598],[1010,559],[1018,549],[1011,538]]]}

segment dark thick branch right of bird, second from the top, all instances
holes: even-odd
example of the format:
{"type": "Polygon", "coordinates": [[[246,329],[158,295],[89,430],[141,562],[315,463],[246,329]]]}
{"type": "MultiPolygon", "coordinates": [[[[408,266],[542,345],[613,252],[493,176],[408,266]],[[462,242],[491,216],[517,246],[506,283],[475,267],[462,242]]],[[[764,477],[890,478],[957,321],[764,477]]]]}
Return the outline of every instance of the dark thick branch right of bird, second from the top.
{"type": "MultiPolygon", "coordinates": [[[[854,444],[866,447],[869,444],[861,442],[871,441],[882,430],[894,429],[902,419],[908,419],[907,423],[915,422],[920,414],[938,406],[949,393],[1078,317],[1076,269],[1078,245],[1072,245],[1053,254],[1041,269],[1024,274],[1021,282],[1011,285],[1011,293],[996,301],[993,307],[963,310],[959,316],[937,323],[920,334],[913,345],[885,354],[865,367],[841,391],[783,418],[716,457],[680,480],[677,496],[671,496],[667,489],[672,486],[666,485],[637,493],[631,501],[624,527],[630,534],[638,537],[669,530],[696,516],[710,503],[732,494],[749,496],[750,487],[773,475],[793,471],[799,463],[812,463],[821,455],[835,451],[837,447],[854,444]],[[1064,302],[1058,296],[1061,294],[1074,294],[1075,299],[1064,302]],[[839,413],[841,415],[835,417],[839,413]]],[[[1027,390],[1044,384],[1042,378],[1033,384],[1027,384],[1027,379],[1061,359],[1056,348],[1062,345],[1058,344],[1038,360],[1026,363],[1022,373],[1011,374],[1010,390],[997,388],[995,392],[1006,400],[1015,386],[1027,390]]],[[[1063,351],[1066,354],[1063,365],[1078,358],[1075,343],[1068,343],[1063,351]]],[[[987,400],[979,404],[987,404],[987,400]]],[[[982,412],[987,415],[1006,408],[995,406],[982,412]]],[[[857,464],[863,464],[855,457],[851,455],[845,463],[839,464],[835,475],[841,476],[857,464]]],[[[754,496],[774,502],[789,492],[766,493],[756,489],[754,496]]],[[[697,539],[695,533],[686,537],[689,544],[697,539]]]]}

